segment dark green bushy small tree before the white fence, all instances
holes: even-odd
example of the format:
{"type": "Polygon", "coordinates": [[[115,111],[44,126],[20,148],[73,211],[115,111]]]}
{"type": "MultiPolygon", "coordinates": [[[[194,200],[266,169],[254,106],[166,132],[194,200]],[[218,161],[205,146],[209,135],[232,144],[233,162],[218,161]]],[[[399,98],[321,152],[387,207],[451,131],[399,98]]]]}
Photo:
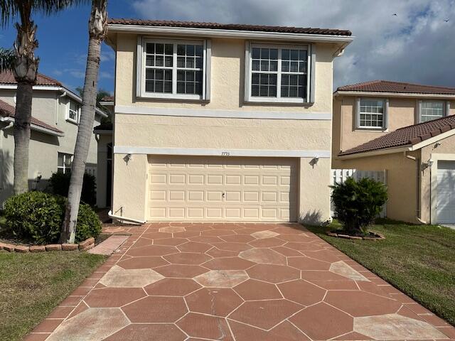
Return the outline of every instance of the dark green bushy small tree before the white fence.
{"type": "Polygon", "coordinates": [[[387,201],[387,187],[373,179],[355,182],[348,178],[344,183],[331,186],[335,216],[343,230],[352,235],[366,234],[368,226],[380,214],[387,201]]]}

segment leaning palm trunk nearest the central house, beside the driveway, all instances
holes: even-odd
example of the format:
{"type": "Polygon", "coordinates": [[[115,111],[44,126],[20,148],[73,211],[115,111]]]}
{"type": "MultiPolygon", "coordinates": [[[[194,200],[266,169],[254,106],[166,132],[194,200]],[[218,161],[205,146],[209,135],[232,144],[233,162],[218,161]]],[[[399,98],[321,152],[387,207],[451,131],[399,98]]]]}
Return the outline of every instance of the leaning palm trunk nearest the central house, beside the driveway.
{"type": "Polygon", "coordinates": [[[107,33],[107,0],[92,0],[88,33],[87,66],[85,68],[84,90],[82,91],[80,124],[77,130],[74,159],[71,167],[70,189],[68,190],[68,203],[65,209],[60,242],[74,243],[75,240],[77,212],[79,212],[85,162],[87,161],[93,121],[95,120],[101,43],[107,33]]]}

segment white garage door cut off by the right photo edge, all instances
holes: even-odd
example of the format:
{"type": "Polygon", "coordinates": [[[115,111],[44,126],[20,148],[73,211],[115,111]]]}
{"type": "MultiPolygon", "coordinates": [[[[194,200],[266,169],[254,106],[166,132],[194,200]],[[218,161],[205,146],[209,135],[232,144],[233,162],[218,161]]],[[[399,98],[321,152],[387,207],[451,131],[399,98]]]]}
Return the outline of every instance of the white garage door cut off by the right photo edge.
{"type": "Polygon", "coordinates": [[[438,161],[437,219],[455,223],[455,161],[438,161]]]}

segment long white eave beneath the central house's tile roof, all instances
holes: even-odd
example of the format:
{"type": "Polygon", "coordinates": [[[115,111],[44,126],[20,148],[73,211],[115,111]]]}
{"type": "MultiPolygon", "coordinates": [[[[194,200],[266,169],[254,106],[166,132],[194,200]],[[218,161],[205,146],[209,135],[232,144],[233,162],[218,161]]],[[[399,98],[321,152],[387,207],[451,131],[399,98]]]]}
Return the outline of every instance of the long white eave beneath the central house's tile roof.
{"type": "Polygon", "coordinates": [[[146,26],[146,25],[127,25],[111,23],[108,25],[111,33],[141,33],[141,34],[162,34],[168,36],[205,36],[208,38],[251,38],[269,40],[295,40],[308,42],[325,43],[350,43],[354,36],[336,36],[325,34],[309,33],[282,33],[265,31],[241,31],[223,30],[217,28],[187,28],[170,26],[146,26]]]}

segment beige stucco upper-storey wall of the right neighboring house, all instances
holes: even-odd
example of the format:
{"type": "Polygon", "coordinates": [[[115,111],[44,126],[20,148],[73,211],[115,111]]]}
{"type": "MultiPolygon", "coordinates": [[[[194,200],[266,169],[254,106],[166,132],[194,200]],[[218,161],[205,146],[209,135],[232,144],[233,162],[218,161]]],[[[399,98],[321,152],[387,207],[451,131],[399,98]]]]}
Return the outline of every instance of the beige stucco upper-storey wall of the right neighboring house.
{"type": "MultiPolygon", "coordinates": [[[[354,96],[343,95],[333,97],[333,156],[338,155],[340,151],[346,151],[372,139],[388,134],[390,131],[395,131],[403,126],[410,126],[417,123],[417,99],[392,97],[389,98],[387,130],[356,129],[356,98],[357,97],[354,96]]],[[[455,114],[455,102],[451,102],[450,114],[455,114]]],[[[333,158],[333,168],[340,168],[339,165],[340,163],[336,158],[333,158]]]]}

